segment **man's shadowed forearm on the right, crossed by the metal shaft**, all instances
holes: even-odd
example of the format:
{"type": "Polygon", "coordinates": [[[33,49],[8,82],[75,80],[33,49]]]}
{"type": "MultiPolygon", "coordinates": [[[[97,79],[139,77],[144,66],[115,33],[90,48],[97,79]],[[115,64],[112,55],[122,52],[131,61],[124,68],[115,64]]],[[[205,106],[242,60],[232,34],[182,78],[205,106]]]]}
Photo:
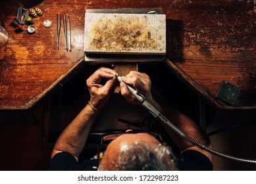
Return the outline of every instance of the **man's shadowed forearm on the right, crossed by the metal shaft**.
{"type": "MultiPolygon", "coordinates": [[[[193,122],[191,118],[182,112],[167,106],[158,99],[154,98],[152,104],[161,112],[161,114],[163,114],[163,116],[165,116],[174,126],[178,127],[178,129],[180,129],[183,133],[189,137],[192,137],[196,141],[203,143],[204,145],[210,145],[207,135],[199,126],[197,126],[197,124],[195,124],[195,122],[193,122]]],[[[193,147],[193,145],[184,140],[183,137],[180,137],[176,132],[170,129],[170,127],[167,127],[165,124],[163,124],[163,122],[161,122],[161,124],[165,127],[172,141],[174,141],[174,143],[176,143],[181,150],[186,150],[188,147],[193,147]]]]}

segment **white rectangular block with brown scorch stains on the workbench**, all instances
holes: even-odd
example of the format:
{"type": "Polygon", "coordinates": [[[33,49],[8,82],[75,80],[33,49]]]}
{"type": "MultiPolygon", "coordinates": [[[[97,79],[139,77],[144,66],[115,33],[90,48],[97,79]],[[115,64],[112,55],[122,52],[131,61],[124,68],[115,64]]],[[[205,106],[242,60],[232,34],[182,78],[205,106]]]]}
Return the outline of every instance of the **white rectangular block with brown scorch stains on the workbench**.
{"type": "Polygon", "coordinates": [[[165,55],[165,14],[86,12],[86,54],[165,55]]]}

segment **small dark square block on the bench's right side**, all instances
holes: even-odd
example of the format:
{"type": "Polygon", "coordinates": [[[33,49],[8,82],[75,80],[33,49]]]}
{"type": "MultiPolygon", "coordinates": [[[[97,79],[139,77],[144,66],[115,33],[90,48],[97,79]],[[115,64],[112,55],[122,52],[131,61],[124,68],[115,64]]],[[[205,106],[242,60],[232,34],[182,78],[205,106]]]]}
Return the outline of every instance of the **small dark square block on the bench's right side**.
{"type": "Polygon", "coordinates": [[[217,93],[217,98],[228,104],[234,105],[236,103],[236,99],[238,99],[240,91],[240,87],[237,87],[228,81],[222,81],[217,93]]]}

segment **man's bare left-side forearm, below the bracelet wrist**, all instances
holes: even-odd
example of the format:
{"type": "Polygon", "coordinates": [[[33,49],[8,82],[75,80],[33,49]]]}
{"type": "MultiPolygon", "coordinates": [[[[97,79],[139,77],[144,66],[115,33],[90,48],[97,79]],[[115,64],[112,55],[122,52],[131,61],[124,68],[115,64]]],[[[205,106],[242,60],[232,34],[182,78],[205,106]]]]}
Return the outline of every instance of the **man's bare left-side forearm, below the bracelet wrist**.
{"type": "Polygon", "coordinates": [[[69,152],[78,160],[98,113],[86,105],[78,116],[68,124],[63,133],[61,133],[55,143],[51,157],[58,152],[69,152]]]}

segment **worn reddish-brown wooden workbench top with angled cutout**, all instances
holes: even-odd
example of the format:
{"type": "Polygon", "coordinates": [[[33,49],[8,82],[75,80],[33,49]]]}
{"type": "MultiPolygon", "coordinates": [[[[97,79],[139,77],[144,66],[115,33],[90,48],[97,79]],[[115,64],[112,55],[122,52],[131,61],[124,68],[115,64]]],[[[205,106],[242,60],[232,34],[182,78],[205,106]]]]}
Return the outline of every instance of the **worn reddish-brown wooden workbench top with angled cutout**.
{"type": "MultiPolygon", "coordinates": [[[[85,9],[163,8],[167,18],[168,66],[218,108],[256,108],[253,1],[45,0],[38,5],[37,32],[11,26],[18,3],[0,2],[0,23],[9,33],[0,48],[0,109],[28,109],[84,67],[85,9]],[[70,13],[72,52],[57,49],[56,14],[70,13]],[[43,21],[53,22],[44,28],[43,21]],[[215,98],[222,80],[242,88],[234,106],[215,98]]],[[[24,26],[26,28],[27,26],[24,26]]]]}

